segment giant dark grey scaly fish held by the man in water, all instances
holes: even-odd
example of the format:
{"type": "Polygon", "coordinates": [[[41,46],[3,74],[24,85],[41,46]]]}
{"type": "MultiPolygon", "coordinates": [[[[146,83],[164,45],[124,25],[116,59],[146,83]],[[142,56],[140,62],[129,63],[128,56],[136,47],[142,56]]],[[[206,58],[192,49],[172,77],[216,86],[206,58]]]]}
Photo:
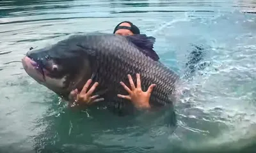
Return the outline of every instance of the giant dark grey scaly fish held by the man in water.
{"type": "Polygon", "coordinates": [[[99,102],[101,106],[119,113],[134,109],[131,101],[118,98],[117,94],[127,94],[120,82],[130,87],[127,75],[136,80],[139,73],[143,91],[156,84],[150,105],[173,105],[179,75],[159,62],[153,49],[155,41],[145,34],[77,34],[54,45],[30,50],[22,58],[22,65],[31,78],[63,99],[68,99],[74,89],[81,91],[92,78],[99,82],[95,94],[104,98],[99,102]]]}

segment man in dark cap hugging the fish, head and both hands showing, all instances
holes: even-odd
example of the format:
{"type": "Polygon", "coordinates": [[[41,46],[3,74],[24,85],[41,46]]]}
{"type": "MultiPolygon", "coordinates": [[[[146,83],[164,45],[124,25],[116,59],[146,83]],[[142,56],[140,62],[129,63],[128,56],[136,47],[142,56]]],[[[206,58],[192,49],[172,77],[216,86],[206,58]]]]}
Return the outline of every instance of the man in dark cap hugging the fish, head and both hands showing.
{"type": "MultiPolygon", "coordinates": [[[[129,36],[133,34],[140,34],[140,29],[132,24],[132,22],[124,21],[120,22],[120,24],[116,25],[114,31],[114,34],[119,34],[122,36],[129,36]]],[[[124,82],[120,82],[120,84],[124,87],[124,89],[129,93],[129,95],[121,95],[117,94],[119,98],[129,99],[131,103],[137,108],[137,109],[148,109],[150,108],[149,105],[149,99],[150,94],[153,91],[153,88],[156,86],[156,84],[152,84],[148,87],[147,91],[141,90],[141,80],[140,75],[136,74],[137,78],[137,85],[134,85],[134,82],[132,80],[131,75],[128,75],[129,82],[131,84],[131,89],[129,89],[124,82]]],[[[89,79],[86,84],[84,85],[82,91],[80,93],[77,92],[77,89],[70,92],[70,100],[75,101],[76,103],[83,103],[85,105],[90,105],[91,103],[95,103],[97,101],[104,100],[103,98],[99,98],[99,95],[92,96],[93,91],[97,87],[98,82],[95,82],[92,87],[88,90],[89,85],[92,83],[92,80],[89,79]]]]}

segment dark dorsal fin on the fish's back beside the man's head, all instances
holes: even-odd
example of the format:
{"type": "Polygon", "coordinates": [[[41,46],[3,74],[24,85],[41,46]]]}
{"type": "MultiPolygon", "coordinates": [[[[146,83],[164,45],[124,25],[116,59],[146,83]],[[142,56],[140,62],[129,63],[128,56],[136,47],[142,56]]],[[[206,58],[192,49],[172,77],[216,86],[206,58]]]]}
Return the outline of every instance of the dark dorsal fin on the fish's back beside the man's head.
{"type": "Polygon", "coordinates": [[[140,52],[143,52],[143,54],[147,55],[154,61],[159,60],[159,56],[156,54],[155,50],[153,50],[156,38],[152,36],[147,36],[146,34],[134,34],[125,37],[134,45],[136,45],[140,52]]]}

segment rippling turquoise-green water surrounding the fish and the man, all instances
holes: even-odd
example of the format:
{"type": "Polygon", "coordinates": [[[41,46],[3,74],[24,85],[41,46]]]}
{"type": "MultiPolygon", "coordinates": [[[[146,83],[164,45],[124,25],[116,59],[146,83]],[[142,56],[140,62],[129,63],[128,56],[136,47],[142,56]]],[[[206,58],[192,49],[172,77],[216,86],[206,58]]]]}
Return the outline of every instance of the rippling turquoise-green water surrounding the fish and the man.
{"type": "Polygon", "coordinates": [[[1,152],[252,152],[255,132],[255,1],[0,1],[1,152]],[[161,61],[182,75],[193,45],[209,63],[166,112],[132,119],[69,110],[26,75],[20,59],[68,34],[112,33],[131,20],[156,37],[161,61]],[[173,133],[172,133],[173,132],[173,133]]]}

